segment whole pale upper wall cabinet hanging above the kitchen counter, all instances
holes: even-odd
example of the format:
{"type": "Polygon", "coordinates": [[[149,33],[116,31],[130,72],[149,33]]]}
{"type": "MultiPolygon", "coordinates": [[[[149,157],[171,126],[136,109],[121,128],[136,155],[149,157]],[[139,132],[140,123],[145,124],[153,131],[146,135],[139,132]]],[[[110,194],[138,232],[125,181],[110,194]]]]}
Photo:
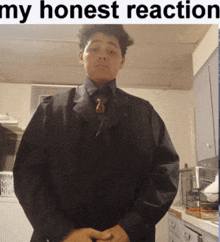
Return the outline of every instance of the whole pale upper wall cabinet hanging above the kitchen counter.
{"type": "Polygon", "coordinates": [[[197,161],[218,155],[218,50],[194,78],[197,161]]]}

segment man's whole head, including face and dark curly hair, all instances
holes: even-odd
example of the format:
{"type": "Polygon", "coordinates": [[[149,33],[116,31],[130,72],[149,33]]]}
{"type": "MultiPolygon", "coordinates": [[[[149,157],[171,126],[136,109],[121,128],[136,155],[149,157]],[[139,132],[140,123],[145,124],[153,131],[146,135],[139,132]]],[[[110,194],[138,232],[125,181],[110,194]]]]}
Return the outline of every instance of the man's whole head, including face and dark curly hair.
{"type": "Polygon", "coordinates": [[[84,25],[79,31],[80,63],[86,75],[102,86],[122,69],[127,47],[133,40],[122,25],[84,25]]]}

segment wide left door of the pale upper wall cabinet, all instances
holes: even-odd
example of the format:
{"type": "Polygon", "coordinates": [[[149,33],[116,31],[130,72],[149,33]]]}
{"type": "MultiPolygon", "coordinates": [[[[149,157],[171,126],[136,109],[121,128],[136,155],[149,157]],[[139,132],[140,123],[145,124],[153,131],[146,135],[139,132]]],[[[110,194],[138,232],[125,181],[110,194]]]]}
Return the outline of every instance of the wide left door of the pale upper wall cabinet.
{"type": "Polygon", "coordinates": [[[194,78],[197,161],[215,157],[210,70],[204,66],[194,78]]]}

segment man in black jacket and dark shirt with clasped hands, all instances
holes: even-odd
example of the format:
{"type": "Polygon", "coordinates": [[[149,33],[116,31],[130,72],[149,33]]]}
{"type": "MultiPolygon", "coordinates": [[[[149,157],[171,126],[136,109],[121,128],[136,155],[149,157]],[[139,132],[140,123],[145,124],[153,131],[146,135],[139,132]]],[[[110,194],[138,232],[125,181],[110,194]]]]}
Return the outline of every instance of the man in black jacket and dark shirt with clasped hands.
{"type": "Polygon", "coordinates": [[[84,85],[46,98],[14,167],[32,242],[153,242],[178,185],[178,155],[149,102],[116,87],[133,41],[122,25],[79,33],[84,85]]]}

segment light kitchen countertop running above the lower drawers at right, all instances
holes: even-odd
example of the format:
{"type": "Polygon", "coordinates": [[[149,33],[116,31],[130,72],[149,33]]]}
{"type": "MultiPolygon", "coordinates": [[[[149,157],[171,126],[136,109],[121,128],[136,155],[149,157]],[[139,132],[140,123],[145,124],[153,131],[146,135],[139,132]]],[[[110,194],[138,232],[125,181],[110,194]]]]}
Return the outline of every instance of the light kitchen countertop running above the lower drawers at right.
{"type": "Polygon", "coordinates": [[[219,236],[219,226],[217,224],[212,223],[212,220],[204,220],[186,214],[186,207],[182,204],[172,205],[169,212],[209,234],[219,236]]]}

